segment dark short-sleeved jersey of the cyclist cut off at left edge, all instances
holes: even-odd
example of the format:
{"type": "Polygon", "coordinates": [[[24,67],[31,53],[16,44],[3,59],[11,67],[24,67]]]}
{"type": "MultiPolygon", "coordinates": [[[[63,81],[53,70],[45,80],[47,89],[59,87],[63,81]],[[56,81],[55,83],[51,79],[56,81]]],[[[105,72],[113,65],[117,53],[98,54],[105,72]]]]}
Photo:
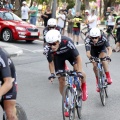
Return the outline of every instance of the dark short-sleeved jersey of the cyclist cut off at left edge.
{"type": "Polygon", "coordinates": [[[6,52],[0,48],[0,81],[3,82],[6,77],[16,78],[15,67],[6,52]]]}

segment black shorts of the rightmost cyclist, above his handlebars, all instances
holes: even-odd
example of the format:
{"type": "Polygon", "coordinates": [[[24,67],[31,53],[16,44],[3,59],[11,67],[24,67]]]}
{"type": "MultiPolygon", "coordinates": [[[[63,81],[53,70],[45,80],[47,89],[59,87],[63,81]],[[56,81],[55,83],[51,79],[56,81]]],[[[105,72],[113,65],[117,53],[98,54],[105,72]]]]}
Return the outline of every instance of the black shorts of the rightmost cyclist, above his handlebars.
{"type": "Polygon", "coordinates": [[[94,47],[91,47],[91,55],[92,55],[93,57],[99,57],[99,54],[100,54],[101,52],[105,52],[105,53],[107,52],[105,45],[103,45],[103,46],[94,46],[94,47]]]}

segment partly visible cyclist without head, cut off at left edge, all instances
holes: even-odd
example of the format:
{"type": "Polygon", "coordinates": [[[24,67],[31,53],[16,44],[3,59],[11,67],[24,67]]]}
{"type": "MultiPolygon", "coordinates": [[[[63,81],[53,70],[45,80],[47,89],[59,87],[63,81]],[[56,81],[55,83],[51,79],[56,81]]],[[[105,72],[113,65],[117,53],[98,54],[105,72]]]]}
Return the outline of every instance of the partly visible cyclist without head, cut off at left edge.
{"type": "Polygon", "coordinates": [[[12,60],[2,48],[0,48],[0,82],[0,97],[7,120],[18,120],[15,109],[17,97],[15,67],[12,60]]]}

